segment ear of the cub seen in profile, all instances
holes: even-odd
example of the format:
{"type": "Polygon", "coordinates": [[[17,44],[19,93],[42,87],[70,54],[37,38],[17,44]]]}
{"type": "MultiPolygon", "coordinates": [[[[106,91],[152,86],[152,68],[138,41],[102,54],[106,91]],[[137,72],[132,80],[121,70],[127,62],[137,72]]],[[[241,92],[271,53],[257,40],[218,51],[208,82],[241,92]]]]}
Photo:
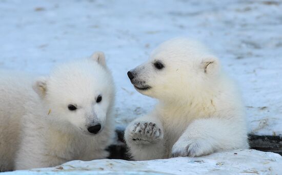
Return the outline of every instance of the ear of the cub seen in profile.
{"type": "Polygon", "coordinates": [[[219,71],[219,61],[216,57],[205,58],[201,64],[205,74],[216,74],[219,71]]]}

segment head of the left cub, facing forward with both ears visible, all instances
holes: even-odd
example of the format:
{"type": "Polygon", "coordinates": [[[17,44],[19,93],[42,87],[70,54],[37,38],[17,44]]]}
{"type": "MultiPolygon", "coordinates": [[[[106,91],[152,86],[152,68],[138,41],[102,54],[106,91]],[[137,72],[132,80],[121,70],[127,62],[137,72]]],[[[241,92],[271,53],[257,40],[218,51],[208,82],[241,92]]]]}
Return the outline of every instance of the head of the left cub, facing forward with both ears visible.
{"type": "Polygon", "coordinates": [[[33,85],[52,122],[94,135],[103,130],[114,101],[114,84],[105,55],[58,65],[33,85]]]}

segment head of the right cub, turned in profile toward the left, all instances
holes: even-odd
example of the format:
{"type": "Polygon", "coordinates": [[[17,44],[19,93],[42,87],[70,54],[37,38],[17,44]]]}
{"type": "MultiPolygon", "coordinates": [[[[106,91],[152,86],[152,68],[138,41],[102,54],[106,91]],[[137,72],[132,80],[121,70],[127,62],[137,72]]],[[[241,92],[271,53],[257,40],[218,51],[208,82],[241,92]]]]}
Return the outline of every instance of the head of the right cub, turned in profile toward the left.
{"type": "Polygon", "coordinates": [[[219,60],[202,43],[174,38],[157,47],[128,77],[138,92],[170,101],[209,91],[219,72],[219,60]]]}

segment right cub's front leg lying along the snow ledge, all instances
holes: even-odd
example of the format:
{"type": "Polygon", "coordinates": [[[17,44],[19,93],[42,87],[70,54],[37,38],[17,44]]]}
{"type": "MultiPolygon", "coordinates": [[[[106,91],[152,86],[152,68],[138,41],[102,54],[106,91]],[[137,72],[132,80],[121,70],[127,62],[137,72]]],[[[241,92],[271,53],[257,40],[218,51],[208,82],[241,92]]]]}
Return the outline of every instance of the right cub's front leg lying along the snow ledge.
{"type": "Polygon", "coordinates": [[[173,145],[172,157],[204,156],[218,150],[239,148],[249,148],[243,121],[197,119],[173,145]]]}

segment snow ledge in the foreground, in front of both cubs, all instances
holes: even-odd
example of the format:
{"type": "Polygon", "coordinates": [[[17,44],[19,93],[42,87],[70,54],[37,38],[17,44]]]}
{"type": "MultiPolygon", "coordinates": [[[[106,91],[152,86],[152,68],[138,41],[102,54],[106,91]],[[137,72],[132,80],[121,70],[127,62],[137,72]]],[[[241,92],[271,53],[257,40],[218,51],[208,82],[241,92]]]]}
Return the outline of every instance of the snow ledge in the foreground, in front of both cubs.
{"type": "Polygon", "coordinates": [[[5,172],[9,174],[280,174],[282,157],[273,152],[232,150],[198,157],[151,161],[71,161],[53,168],[5,172]]]}

